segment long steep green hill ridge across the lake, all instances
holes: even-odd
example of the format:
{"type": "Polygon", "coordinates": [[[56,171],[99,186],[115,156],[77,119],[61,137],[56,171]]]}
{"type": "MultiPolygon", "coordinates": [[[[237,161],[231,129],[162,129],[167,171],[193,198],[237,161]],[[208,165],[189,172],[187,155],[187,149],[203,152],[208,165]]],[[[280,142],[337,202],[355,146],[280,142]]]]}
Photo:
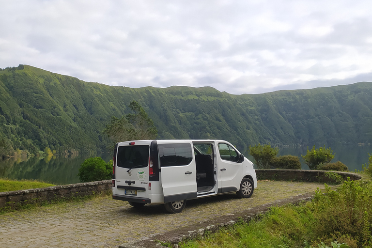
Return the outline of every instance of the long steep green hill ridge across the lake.
{"type": "Polygon", "coordinates": [[[239,149],[372,143],[372,83],[232,95],[211,87],[128,88],[29,65],[0,70],[0,156],[103,151],[102,130],[136,100],[159,139],[224,139],[239,149]]]}

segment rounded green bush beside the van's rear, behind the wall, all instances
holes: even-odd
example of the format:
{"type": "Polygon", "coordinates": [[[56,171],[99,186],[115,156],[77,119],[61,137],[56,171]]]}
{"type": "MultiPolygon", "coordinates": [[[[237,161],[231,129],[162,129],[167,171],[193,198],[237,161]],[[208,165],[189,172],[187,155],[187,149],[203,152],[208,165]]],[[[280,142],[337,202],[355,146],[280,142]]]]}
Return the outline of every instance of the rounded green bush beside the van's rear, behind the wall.
{"type": "Polygon", "coordinates": [[[112,160],[106,163],[101,157],[85,159],[80,165],[78,176],[83,183],[111,179],[112,160]]]}

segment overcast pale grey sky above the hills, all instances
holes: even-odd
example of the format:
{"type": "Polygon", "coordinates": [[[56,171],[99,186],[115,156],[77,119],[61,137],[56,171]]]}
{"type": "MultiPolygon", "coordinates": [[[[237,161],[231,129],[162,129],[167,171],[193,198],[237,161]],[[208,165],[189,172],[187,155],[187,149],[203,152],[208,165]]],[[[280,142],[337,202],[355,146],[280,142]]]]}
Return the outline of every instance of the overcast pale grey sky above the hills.
{"type": "Polygon", "coordinates": [[[233,94],[372,81],[369,0],[0,0],[0,68],[233,94]]]}

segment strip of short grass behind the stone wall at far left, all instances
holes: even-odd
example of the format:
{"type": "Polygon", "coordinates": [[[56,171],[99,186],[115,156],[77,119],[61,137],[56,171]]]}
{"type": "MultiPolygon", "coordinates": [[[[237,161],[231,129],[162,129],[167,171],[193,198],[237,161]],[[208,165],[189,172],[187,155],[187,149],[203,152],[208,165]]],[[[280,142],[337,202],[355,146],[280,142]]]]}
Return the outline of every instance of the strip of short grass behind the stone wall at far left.
{"type": "Polygon", "coordinates": [[[31,188],[43,188],[54,186],[45,182],[36,180],[10,180],[6,178],[0,178],[0,192],[14,191],[20,189],[31,189],[31,188]]]}

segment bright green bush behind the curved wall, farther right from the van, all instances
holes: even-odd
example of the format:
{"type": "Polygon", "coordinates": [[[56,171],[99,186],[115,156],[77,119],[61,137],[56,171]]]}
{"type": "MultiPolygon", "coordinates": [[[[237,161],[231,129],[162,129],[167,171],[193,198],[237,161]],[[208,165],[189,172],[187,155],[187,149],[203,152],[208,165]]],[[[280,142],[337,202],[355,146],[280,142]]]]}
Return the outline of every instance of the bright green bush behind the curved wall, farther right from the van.
{"type": "Polygon", "coordinates": [[[319,147],[319,149],[315,149],[315,145],[312,147],[311,151],[308,151],[306,155],[301,155],[303,159],[305,159],[305,163],[309,166],[310,170],[316,170],[316,167],[320,164],[329,163],[335,157],[332,154],[333,151],[329,147],[325,149],[324,147],[319,147]]]}

